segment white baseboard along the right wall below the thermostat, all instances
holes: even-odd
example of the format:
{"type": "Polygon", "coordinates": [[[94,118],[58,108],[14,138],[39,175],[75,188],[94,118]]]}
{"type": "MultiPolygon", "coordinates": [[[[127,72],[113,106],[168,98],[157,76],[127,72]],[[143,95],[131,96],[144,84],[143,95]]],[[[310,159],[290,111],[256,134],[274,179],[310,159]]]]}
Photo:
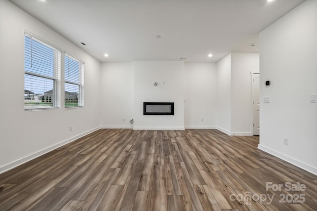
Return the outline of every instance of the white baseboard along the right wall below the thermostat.
{"type": "Polygon", "coordinates": [[[272,150],[272,149],[270,149],[268,147],[265,147],[265,146],[263,146],[261,144],[258,145],[258,149],[260,149],[260,150],[262,150],[264,152],[267,152],[268,154],[271,154],[271,155],[273,155],[273,156],[275,156],[277,158],[280,158],[280,159],[282,159],[282,160],[284,160],[284,161],[286,161],[286,162],[288,162],[290,164],[293,164],[294,166],[297,166],[297,167],[299,167],[301,169],[307,170],[308,172],[311,172],[311,173],[317,175],[317,168],[316,167],[312,167],[312,166],[310,166],[308,164],[305,164],[305,163],[303,163],[301,161],[298,161],[298,160],[296,160],[294,158],[291,158],[291,157],[289,157],[287,155],[284,155],[284,154],[281,154],[279,152],[276,152],[275,150],[272,150]]]}

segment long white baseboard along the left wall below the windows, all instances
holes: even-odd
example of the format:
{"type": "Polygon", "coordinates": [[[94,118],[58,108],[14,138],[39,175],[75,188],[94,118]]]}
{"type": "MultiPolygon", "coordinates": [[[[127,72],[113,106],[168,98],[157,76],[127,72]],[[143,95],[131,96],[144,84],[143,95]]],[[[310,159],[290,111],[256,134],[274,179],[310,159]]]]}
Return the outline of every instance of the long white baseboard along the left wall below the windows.
{"type": "Polygon", "coordinates": [[[10,170],[10,169],[13,169],[13,168],[15,168],[17,166],[20,166],[20,165],[22,165],[22,164],[24,164],[24,163],[26,163],[28,161],[31,161],[31,160],[33,160],[33,159],[35,159],[35,158],[37,158],[37,157],[39,157],[41,155],[44,155],[44,154],[46,154],[46,153],[48,153],[48,152],[50,152],[50,151],[52,151],[54,149],[57,149],[58,147],[61,147],[61,146],[65,145],[65,144],[68,144],[68,143],[70,143],[72,141],[75,141],[76,139],[78,139],[80,137],[83,137],[83,136],[85,136],[85,135],[87,135],[89,133],[92,133],[92,132],[94,132],[94,131],[96,131],[98,129],[100,129],[100,127],[96,127],[94,129],[91,129],[91,130],[88,130],[86,132],[83,132],[83,133],[81,133],[79,135],[75,135],[75,136],[73,136],[71,138],[68,138],[67,140],[64,140],[62,142],[54,144],[53,146],[50,146],[50,147],[48,147],[46,149],[40,150],[40,151],[38,151],[36,153],[33,153],[31,155],[28,155],[28,156],[25,156],[24,158],[21,158],[21,159],[18,159],[16,161],[13,161],[12,163],[6,164],[6,165],[0,167],[0,173],[3,173],[3,172],[5,172],[7,170],[10,170]]]}

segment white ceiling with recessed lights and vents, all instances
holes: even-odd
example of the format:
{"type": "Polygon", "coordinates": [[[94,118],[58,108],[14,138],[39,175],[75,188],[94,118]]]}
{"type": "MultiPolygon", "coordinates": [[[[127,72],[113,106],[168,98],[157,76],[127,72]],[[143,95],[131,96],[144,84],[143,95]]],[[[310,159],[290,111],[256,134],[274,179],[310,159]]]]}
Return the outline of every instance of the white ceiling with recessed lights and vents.
{"type": "Polygon", "coordinates": [[[258,52],[259,33],[303,1],[11,0],[101,62],[216,62],[258,52]]]}

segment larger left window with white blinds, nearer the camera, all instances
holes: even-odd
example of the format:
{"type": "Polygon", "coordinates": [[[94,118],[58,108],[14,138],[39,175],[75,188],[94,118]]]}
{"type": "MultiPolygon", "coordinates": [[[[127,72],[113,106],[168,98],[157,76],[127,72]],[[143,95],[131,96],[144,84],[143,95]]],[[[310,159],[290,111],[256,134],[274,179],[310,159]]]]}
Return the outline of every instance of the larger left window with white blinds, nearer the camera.
{"type": "Polygon", "coordinates": [[[24,43],[24,109],[60,107],[60,51],[29,34],[24,43]]]}

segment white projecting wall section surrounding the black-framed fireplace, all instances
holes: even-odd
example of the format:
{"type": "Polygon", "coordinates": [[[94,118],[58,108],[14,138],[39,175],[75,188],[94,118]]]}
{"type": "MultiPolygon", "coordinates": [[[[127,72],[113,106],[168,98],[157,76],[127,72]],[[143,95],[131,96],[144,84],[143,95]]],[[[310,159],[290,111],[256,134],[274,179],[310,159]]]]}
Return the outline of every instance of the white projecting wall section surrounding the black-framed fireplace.
{"type": "Polygon", "coordinates": [[[184,83],[183,61],[134,62],[133,128],[184,129],[184,83]],[[174,115],[143,115],[143,102],[174,102],[174,115]]]}

